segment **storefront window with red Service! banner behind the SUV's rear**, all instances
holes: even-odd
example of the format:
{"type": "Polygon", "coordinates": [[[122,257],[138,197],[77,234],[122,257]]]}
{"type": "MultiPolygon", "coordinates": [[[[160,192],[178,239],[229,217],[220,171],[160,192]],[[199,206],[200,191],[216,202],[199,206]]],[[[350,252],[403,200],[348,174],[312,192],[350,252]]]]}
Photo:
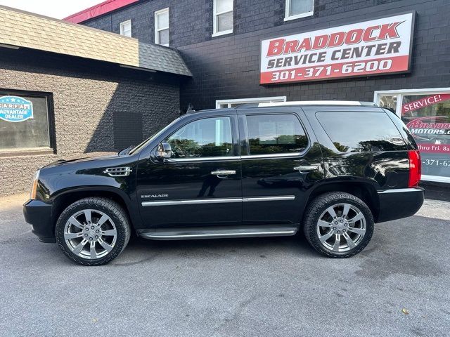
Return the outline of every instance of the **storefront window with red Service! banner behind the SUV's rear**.
{"type": "Polygon", "coordinates": [[[413,134],[423,180],[450,183],[450,88],[375,93],[375,101],[397,112],[413,134]]]}

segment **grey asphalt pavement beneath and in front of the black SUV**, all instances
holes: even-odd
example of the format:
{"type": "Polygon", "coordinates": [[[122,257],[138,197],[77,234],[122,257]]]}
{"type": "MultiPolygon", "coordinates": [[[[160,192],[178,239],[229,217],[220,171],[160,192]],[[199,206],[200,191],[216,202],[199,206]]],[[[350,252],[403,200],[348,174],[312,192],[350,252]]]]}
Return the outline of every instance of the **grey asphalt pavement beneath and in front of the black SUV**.
{"type": "Polygon", "coordinates": [[[135,240],[109,265],[83,267],[39,243],[21,212],[0,203],[0,336],[450,334],[449,220],[378,224],[343,260],[299,235],[135,240]]]}

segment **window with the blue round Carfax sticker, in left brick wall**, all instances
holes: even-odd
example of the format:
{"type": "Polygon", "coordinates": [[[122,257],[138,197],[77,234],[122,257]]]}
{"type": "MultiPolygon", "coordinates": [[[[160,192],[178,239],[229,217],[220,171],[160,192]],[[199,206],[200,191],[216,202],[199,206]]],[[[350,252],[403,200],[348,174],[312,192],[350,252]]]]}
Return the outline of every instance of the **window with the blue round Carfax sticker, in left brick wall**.
{"type": "Polygon", "coordinates": [[[46,95],[0,93],[0,152],[49,150],[49,107],[46,95]]]}

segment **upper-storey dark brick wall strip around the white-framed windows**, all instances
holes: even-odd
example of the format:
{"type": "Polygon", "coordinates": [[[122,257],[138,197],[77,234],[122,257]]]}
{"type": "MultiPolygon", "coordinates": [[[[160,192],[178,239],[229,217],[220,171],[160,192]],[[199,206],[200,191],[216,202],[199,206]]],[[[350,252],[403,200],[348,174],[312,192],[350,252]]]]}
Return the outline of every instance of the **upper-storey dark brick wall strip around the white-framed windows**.
{"type": "MultiPolygon", "coordinates": [[[[314,15],[285,22],[285,0],[234,0],[233,35],[290,25],[297,27],[326,22],[331,15],[364,12],[369,7],[400,0],[314,0],[314,15]],[[323,20],[323,18],[327,18],[323,20]]],[[[413,5],[416,1],[408,1],[413,5]]],[[[423,2],[423,1],[422,1],[423,2]]],[[[428,1],[430,2],[430,1],[428,1]]],[[[174,47],[221,39],[212,37],[213,0],[141,0],[117,11],[82,22],[83,25],[120,33],[120,22],[131,20],[132,37],[154,42],[154,13],[169,8],[170,45],[174,47]]],[[[367,12],[367,11],[366,11],[367,12]]],[[[351,14],[350,14],[351,15],[351,14]]],[[[227,36],[230,36],[227,35],[227,36]]]]}

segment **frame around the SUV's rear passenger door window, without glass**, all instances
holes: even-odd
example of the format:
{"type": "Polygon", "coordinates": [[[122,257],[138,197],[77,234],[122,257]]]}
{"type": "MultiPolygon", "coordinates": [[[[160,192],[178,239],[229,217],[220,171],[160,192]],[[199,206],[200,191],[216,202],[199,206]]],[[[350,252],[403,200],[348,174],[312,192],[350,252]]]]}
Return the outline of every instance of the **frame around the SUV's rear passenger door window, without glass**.
{"type": "Polygon", "coordinates": [[[264,159],[264,158],[280,158],[280,157],[301,157],[306,152],[308,152],[309,148],[311,147],[311,137],[309,137],[307,128],[304,126],[302,119],[298,114],[292,111],[280,111],[280,112],[243,112],[240,114],[241,121],[242,121],[242,129],[240,129],[240,134],[242,135],[241,139],[241,150],[240,150],[240,156],[241,159],[264,159]],[[250,154],[250,140],[248,138],[248,123],[247,123],[247,117],[248,116],[267,116],[267,115],[274,115],[274,114],[291,114],[293,115],[300,123],[300,126],[302,127],[304,131],[304,135],[307,137],[308,144],[301,152],[286,152],[286,153],[276,153],[276,154],[250,154]]]}

